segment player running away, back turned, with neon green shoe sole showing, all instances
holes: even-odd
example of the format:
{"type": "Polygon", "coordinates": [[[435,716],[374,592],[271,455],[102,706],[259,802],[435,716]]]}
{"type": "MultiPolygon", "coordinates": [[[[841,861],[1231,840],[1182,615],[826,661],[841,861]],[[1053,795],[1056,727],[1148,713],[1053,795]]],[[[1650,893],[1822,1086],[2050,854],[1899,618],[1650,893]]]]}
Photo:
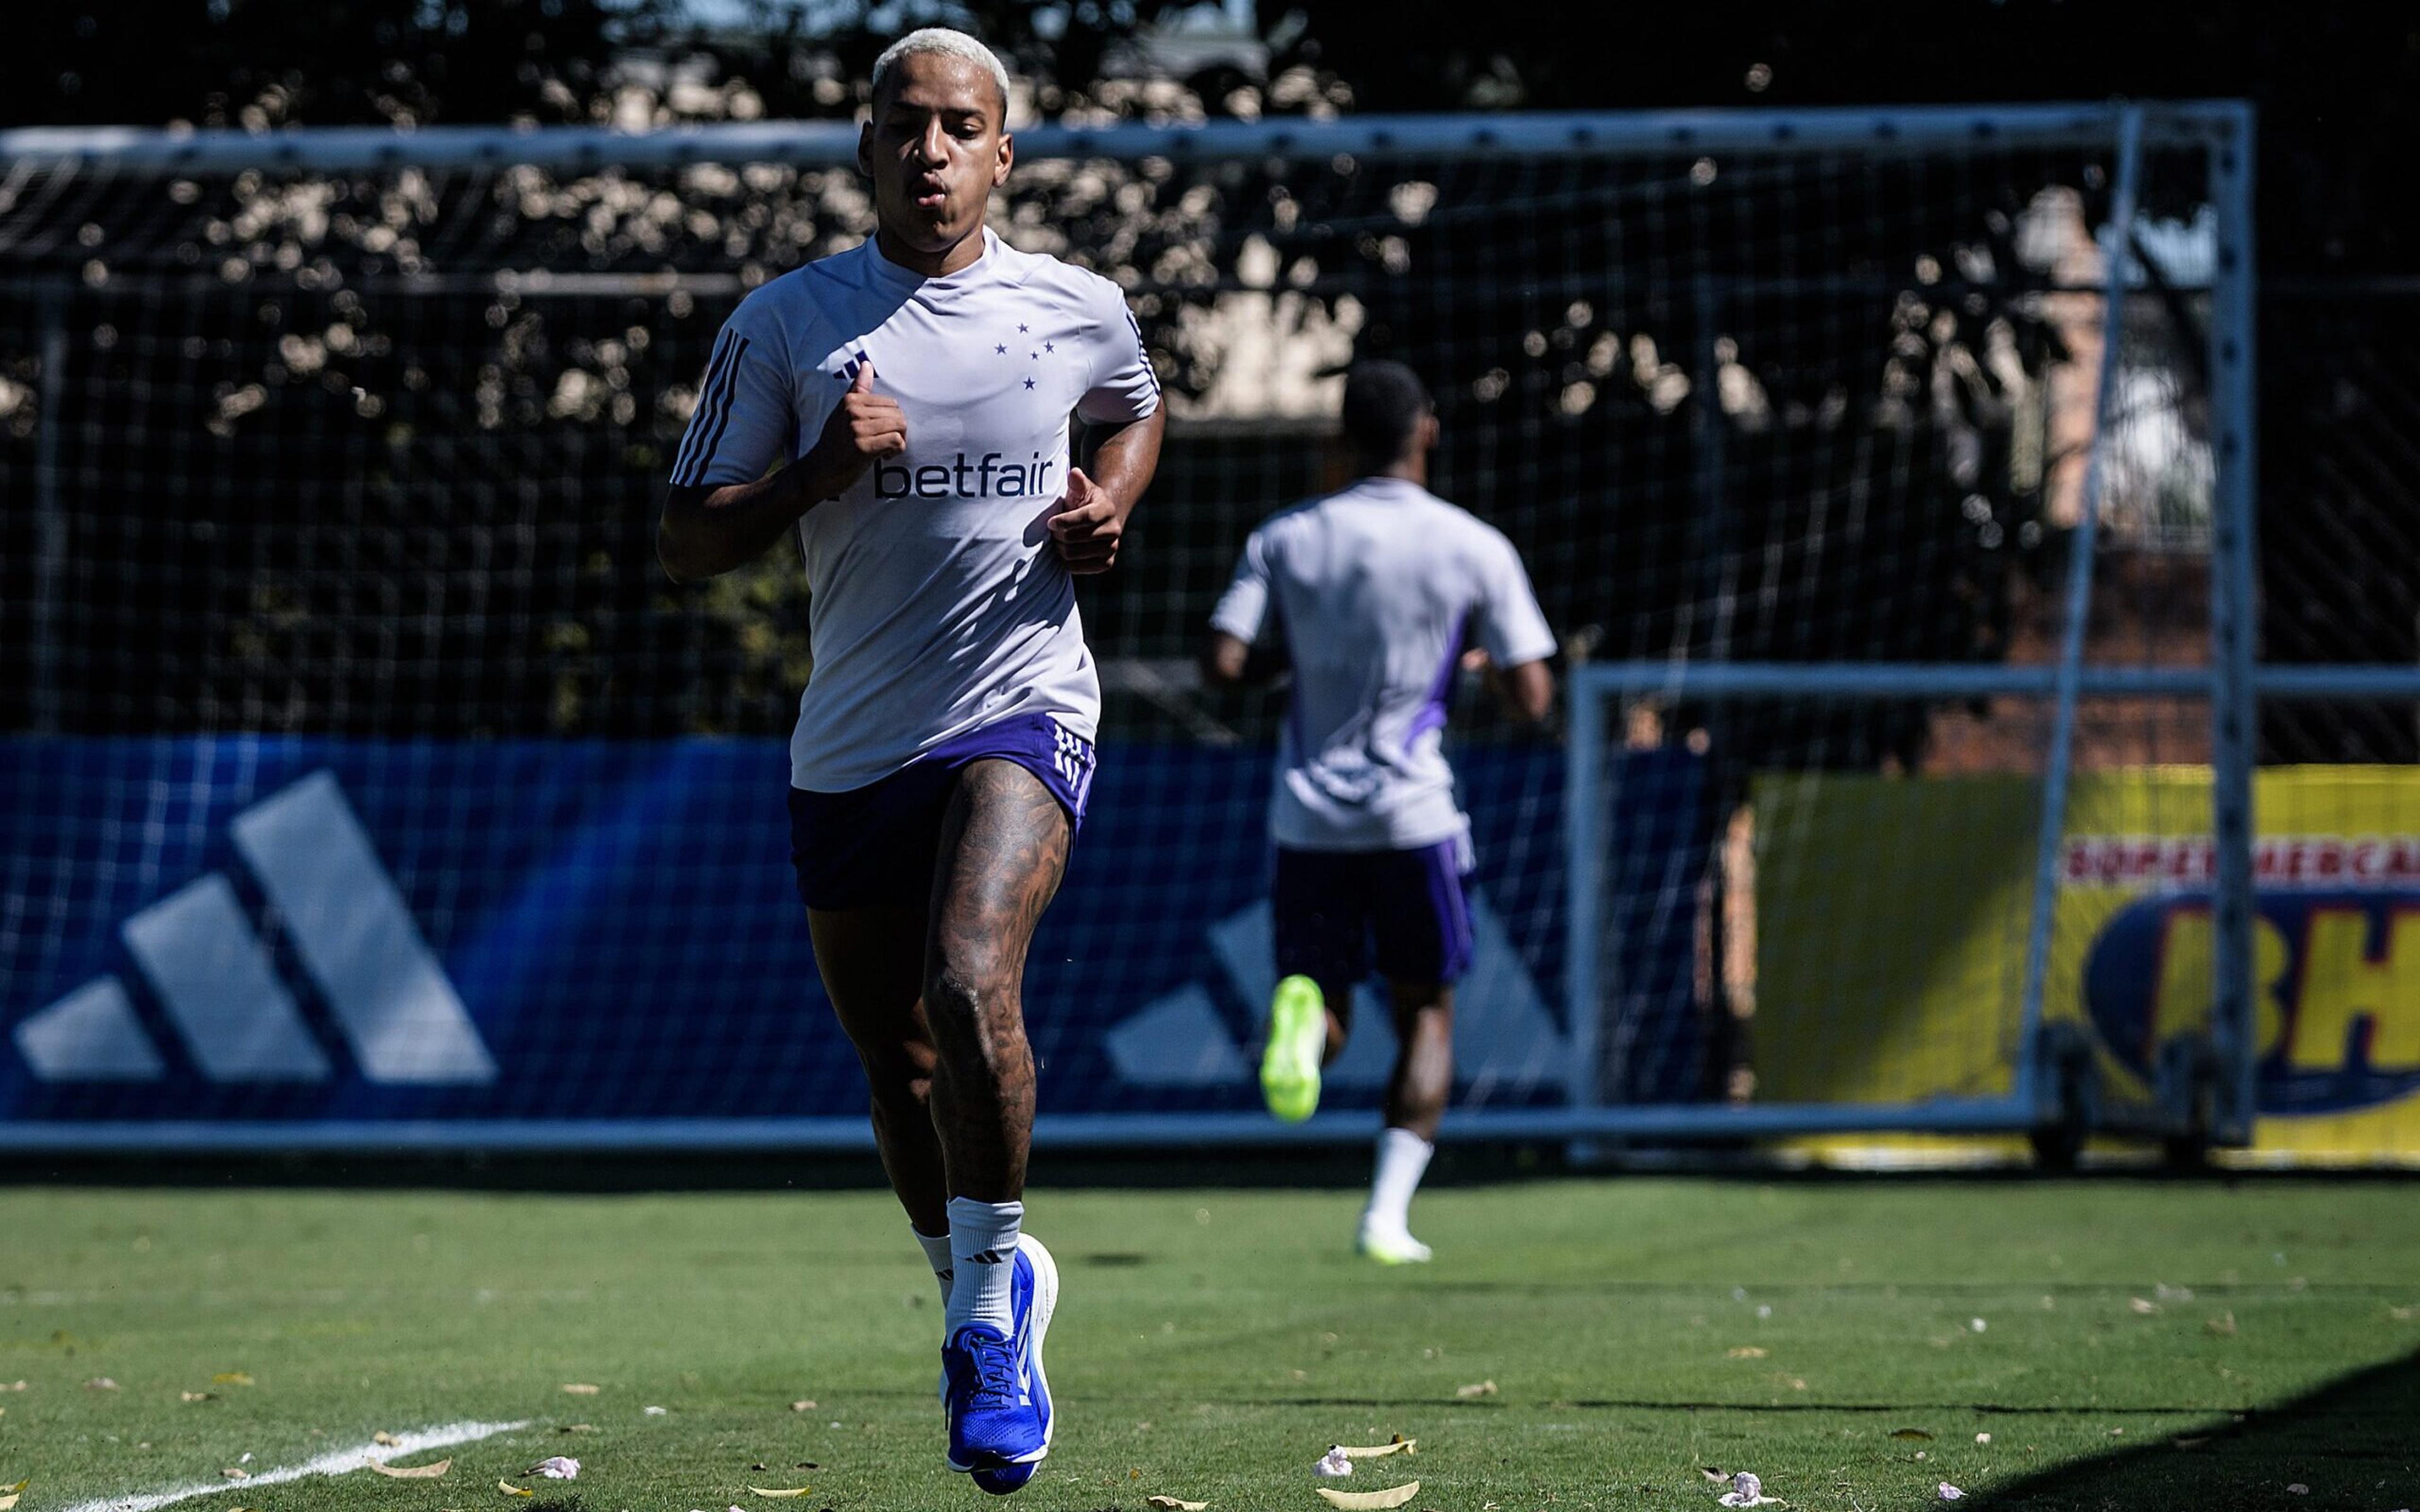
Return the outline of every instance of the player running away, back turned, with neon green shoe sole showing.
{"type": "Polygon", "coordinates": [[[1309,1118],[1353,987],[1372,968],[1387,977],[1396,1060],[1358,1248],[1404,1265],[1428,1260],[1411,1193],[1454,1089],[1454,977],[1471,960],[1471,825],[1445,764],[1445,699],[1469,631],[1512,709],[1544,719],[1554,634],[1512,542],[1428,491],[1437,411],[1411,368],[1346,375],[1343,438],[1358,481],[1251,532],[1203,673],[1263,673],[1254,641],[1283,631],[1295,687],[1268,806],[1278,992],[1261,1091],[1278,1118],[1309,1118]]]}

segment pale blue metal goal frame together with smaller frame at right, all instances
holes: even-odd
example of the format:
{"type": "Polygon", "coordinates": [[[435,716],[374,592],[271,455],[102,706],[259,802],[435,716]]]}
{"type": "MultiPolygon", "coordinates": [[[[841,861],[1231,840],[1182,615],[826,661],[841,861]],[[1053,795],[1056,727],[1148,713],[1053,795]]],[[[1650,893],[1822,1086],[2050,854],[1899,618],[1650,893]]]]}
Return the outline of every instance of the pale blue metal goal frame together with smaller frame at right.
{"type": "MultiPolygon", "coordinates": [[[[2217,266],[2209,319],[2212,448],[2217,460],[2212,530],[2212,658],[2207,668],[2105,668],[2081,663],[2081,593],[2088,583],[2098,481],[2086,508],[2069,588],[2069,619],[2055,665],[1972,663],[1592,663],[1568,677],[1571,743],[1566,789],[1568,907],[1578,922],[1602,917],[1604,847],[1590,815],[1604,786],[1604,723],[1612,702],[1636,694],[1692,699],[1752,699],[1786,694],[1878,699],[2035,694],[2055,702],[2057,735],[2047,764],[2035,910],[2023,994],[2026,1052],[2013,1091],[2001,1098],[1941,1098],[1921,1103],[1604,1103],[1588,1067],[1597,1064],[1597,953],[1571,948],[1561,987],[1571,1031],[1566,1103],[1558,1108],[1471,1108],[1447,1115],[1450,1139],[1723,1139],[1817,1132],[2040,1132],[2086,1125],[2154,1137],[2197,1137],[2243,1144],[2253,1127],[2253,994],[2251,994],[2251,774],[2255,706],[2270,699],[2420,697],[2420,668],[2333,665],[2258,668],[2258,602],[2253,573],[2253,109],[2243,102],[2180,104],[2016,104],[2016,106],[1880,106],[1808,111],[1655,111],[1655,114],[1532,114],[1532,116],[1353,116],[1338,121],[1215,121],[1198,126],[1038,126],[1019,133],[1026,157],[1152,157],[1186,162],[1220,157],[1321,160],[1389,157],[1525,157],[1667,155],[1725,150],[1953,150],[1958,145],[2113,148],[2118,160],[2115,225],[2132,215],[2137,165],[2147,148],[2205,148],[2209,203],[2217,208],[2217,266]],[[2047,1043],[2040,1023],[2047,898],[2064,808],[2069,743],[2079,697],[2185,694],[2212,711],[2214,839],[2217,839],[2217,1002],[2212,1040],[2200,1074],[2180,1081],[2159,1106],[2103,1108],[2074,1077],[2074,1057],[2047,1043]]],[[[31,165],[82,165],[133,174],[269,169],[382,169],[402,165],[680,165],[762,162],[840,165],[854,157],[857,128],[837,121],[673,128],[644,135],[603,128],[375,128],[160,133],[119,128],[0,131],[0,157],[31,165]]],[[[2110,261],[2113,269],[2122,259],[2110,261]]],[[[2113,276],[2110,329],[2120,317],[2125,281],[2113,276]]],[[[2103,363],[2115,360],[2115,341],[2103,363]]],[[[44,363],[51,373],[53,363],[44,363]]],[[[2103,382],[2108,392],[2108,382],[2103,382]]],[[[44,406],[48,414],[51,406],[44,406]]],[[[2098,479],[2098,438],[2096,464],[2098,479]]],[[[56,489],[36,486],[36,513],[58,510],[56,489]]],[[[56,520],[53,520],[56,523],[56,520]]],[[[41,527],[44,520],[36,520],[41,527]]],[[[41,532],[51,539],[53,532],[41,532]]],[[[36,648],[39,653],[39,648],[36,648]]],[[[39,692],[39,689],[36,689],[39,692]]],[[[1263,1115],[1045,1115],[1043,1147],[1137,1144],[1341,1144],[1375,1132],[1370,1113],[1326,1113],[1302,1125],[1263,1115]]],[[[869,1149],[862,1120],[733,1118],[733,1120],[590,1120],[590,1123],[312,1123],[312,1125],[165,1125],[85,1123],[7,1125],[0,1149],[46,1152],[397,1152],[397,1149],[869,1149]]]]}

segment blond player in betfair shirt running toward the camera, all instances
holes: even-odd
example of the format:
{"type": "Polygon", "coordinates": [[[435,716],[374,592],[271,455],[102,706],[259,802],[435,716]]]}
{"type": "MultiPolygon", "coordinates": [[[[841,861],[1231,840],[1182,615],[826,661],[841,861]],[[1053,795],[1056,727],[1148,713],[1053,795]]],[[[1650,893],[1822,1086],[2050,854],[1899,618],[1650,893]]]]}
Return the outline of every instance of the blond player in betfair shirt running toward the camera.
{"type": "Polygon", "coordinates": [[[658,554],[692,581],[796,532],[816,663],[789,745],[799,895],[946,1299],[949,1466],[1004,1495],[1053,1432],[1019,992],[1094,772],[1072,576],[1116,561],[1164,421],[1118,285],[983,223],[1014,160],[999,58],[912,31],[871,94],[876,232],[724,324],[658,554]],[[1104,433],[1089,474],[1070,414],[1104,433]]]}

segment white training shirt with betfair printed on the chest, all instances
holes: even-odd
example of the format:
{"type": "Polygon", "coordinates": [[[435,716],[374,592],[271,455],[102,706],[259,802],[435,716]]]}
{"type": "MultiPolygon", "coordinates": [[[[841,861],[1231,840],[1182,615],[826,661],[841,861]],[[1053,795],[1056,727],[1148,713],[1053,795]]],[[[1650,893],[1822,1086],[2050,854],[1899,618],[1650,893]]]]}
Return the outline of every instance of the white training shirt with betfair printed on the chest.
{"type": "Polygon", "coordinates": [[[1159,380],[1118,285],[990,230],[949,278],[869,237],[757,288],[724,322],[685,486],[750,484],[813,450],[874,363],[908,450],[799,520],[816,668],[791,786],[845,793],[968,731],[1050,714],[1087,740],[1101,682],[1045,520],[1067,491],[1067,416],[1140,421],[1159,380]]]}

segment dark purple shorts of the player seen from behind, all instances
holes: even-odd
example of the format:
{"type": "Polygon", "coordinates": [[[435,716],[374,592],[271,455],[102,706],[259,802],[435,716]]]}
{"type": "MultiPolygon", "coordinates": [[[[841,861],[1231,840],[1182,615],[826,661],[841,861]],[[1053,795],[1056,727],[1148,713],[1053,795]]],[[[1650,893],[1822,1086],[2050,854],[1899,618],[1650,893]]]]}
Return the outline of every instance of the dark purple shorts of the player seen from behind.
{"type": "Polygon", "coordinates": [[[1471,965],[1471,907],[1459,839],[1413,852],[1278,847],[1270,910],[1278,975],[1360,982],[1452,982],[1471,965]]]}

